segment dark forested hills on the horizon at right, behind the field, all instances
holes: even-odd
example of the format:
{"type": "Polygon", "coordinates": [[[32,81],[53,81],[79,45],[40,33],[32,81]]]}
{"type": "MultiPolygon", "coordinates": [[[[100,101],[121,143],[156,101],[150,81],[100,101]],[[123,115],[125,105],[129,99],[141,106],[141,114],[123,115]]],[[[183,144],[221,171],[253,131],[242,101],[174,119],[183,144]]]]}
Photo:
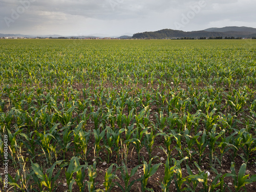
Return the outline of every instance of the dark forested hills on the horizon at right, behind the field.
{"type": "Polygon", "coordinates": [[[162,39],[162,38],[200,38],[200,37],[243,37],[250,38],[255,34],[254,28],[246,27],[226,27],[224,28],[210,28],[202,31],[180,31],[172,29],[162,29],[155,32],[143,32],[136,33],[133,35],[133,38],[152,38],[152,39],[162,39]],[[229,31],[234,30],[234,31],[229,31]]]}

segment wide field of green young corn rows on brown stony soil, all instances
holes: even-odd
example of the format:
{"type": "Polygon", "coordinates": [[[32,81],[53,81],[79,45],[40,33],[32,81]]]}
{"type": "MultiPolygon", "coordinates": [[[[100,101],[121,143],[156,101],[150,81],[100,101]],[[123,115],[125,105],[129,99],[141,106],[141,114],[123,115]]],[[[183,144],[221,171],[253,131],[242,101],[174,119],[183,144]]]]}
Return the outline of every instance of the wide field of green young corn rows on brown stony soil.
{"type": "Polygon", "coordinates": [[[255,88],[255,40],[1,39],[1,190],[256,191],[255,88]]]}

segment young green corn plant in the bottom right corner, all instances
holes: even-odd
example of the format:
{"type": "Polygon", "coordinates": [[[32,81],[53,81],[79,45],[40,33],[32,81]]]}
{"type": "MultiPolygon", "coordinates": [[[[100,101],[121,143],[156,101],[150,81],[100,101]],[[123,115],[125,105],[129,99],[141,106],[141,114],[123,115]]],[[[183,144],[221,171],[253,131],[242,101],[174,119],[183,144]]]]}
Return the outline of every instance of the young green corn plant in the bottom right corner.
{"type": "Polygon", "coordinates": [[[236,191],[240,191],[240,189],[243,187],[246,191],[245,185],[250,184],[252,182],[256,182],[256,175],[253,175],[250,177],[250,179],[247,179],[249,175],[245,175],[246,172],[246,163],[243,163],[239,169],[238,175],[236,174],[236,169],[234,168],[234,162],[231,163],[231,173],[233,178],[233,184],[236,191]]]}

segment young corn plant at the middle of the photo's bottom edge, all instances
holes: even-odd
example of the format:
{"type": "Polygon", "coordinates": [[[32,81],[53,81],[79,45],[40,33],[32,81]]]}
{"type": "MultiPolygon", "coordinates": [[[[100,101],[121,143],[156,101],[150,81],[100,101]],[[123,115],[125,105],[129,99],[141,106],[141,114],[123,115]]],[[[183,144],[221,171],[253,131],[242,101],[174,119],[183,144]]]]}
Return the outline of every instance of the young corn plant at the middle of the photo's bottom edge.
{"type": "Polygon", "coordinates": [[[121,172],[121,178],[122,178],[122,183],[124,183],[124,187],[119,183],[119,182],[116,182],[116,184],[120,187],[120,189],[123,191],[123,192],[129,192],[133,186],[133,184],[137,181],[140,181],[141,178],[139,179],[136,179],[136,180],[132,180],[130,182],[130,179],[136,174],[138,168],[142,165],[137,165],[136,167],[134,167],[132,170],[131,170],[131,174],[129,175],[129,172],[128,172],[128,169],[127,169],[127,166],[126,164],[124,164],[124,162],[122,163],[123,165],[118,167],[118,169],[120,169],[120,172],[121,172]],[[130,183],[130,184],[129,184],[130,183]]]}

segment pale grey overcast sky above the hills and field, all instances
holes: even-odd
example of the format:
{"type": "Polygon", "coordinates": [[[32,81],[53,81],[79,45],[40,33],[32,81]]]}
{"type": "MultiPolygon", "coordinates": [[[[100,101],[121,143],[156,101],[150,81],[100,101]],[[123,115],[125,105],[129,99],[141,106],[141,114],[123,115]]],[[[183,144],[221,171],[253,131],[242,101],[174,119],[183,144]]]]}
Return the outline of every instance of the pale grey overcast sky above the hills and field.
{"type": "Polygon", "coordinates": [[[122,35],[256,28],[255,0],[0,0],[0,33],[122,35]]]}

